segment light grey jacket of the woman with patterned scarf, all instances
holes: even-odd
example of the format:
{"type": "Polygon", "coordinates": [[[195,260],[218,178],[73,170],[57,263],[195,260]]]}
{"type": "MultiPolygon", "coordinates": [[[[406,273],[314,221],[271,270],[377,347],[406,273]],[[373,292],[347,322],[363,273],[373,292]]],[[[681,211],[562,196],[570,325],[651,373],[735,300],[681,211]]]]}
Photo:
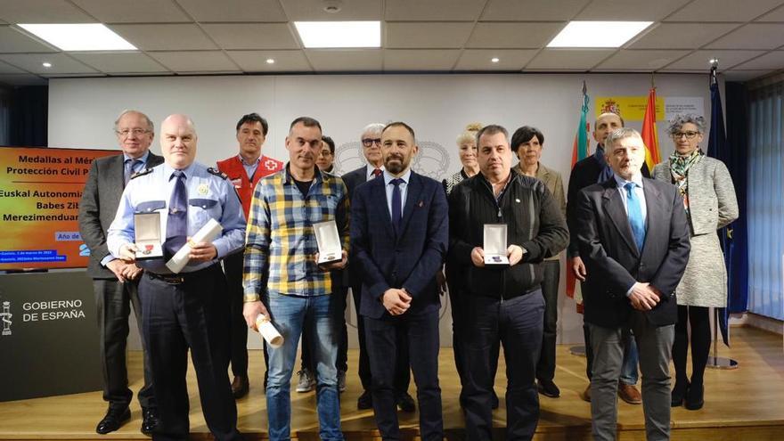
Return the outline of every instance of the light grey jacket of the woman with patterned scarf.
{"type": "MultiPolygon", "coordinates": [[[[670,161],[653,167],[653,177],[667,183],[673,182],[670,161]]],[[[691,235],[715,233],[739,216],[735,186],[724,163],[703,157],[689,168],[689,222],[691,235]]]]}

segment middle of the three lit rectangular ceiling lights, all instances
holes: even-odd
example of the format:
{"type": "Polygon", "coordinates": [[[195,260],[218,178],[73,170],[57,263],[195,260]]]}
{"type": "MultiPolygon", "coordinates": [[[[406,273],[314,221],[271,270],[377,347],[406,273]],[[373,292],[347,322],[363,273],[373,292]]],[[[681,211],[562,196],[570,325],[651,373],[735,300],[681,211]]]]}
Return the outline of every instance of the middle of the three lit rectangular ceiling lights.
{"type": "Polygon", "coordinates": [[[306,48],[381,47],[380,21],[295,21],[306,48]]]}

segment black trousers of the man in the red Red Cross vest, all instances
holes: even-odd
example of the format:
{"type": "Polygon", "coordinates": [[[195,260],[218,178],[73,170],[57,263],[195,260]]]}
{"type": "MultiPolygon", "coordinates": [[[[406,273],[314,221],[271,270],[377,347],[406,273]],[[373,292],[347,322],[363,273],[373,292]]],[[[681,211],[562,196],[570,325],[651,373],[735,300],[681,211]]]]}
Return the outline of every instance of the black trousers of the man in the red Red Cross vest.
{"type": "MultiPolygon", "coordinates": [[[[248,323],[245,323],[245,317],[242,315],[242,300],[244,290],[242,288],[242,253],[236,253],[224,258],[224,272],[226,274],[226,283],[228,284],[229,296],[229,316],[230,316],[230,332],[229,339],[231,341],[231,358],[232,373],[237,377],[248,378],[248,323]]],[[[266,342],[263,343],[264,348],[264,384],[266,385],[267,369],[269,365],[269,355],[266,352],[266,342]]]]}

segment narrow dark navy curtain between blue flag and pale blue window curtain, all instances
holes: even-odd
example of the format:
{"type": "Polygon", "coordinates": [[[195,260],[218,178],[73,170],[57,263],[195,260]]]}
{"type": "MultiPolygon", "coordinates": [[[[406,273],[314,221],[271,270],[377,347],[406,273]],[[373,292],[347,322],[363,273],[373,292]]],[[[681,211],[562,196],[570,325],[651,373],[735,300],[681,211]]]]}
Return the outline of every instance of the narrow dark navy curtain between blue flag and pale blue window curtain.
{"type": "Polygon", "coordinates": [[[729,313],[747,311],[748,304],[748,236],[746,208],[748,167],[748,96],[743,83],[728,82],[724,85],[727,98],[727,168],[735,184],[740,216],[731,226],[731,254],[729,256],[730,296],[729,313]]]}

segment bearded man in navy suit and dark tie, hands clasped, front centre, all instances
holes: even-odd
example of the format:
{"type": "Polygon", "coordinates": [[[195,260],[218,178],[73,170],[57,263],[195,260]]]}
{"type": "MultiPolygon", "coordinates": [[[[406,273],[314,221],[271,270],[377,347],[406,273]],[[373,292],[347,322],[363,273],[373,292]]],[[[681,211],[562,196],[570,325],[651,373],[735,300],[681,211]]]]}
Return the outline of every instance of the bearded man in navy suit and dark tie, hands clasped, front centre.
{"type": "Polygon", "coordinates": [[[381,151],[384,174],[355,189],[350,222],[351,249],[363,274],[360,314],[370,355],[373,411],[381,437],[399,439],[395,358],[396,348],[407,345],[421,438],[440,440],[436,274],[448,241],[446,196],[437,181],[411,171],[418,151],[411,127],[402,122],[384,127],[381,151]],[[397,339],[401,333],[407,339],[397,339]]]}

